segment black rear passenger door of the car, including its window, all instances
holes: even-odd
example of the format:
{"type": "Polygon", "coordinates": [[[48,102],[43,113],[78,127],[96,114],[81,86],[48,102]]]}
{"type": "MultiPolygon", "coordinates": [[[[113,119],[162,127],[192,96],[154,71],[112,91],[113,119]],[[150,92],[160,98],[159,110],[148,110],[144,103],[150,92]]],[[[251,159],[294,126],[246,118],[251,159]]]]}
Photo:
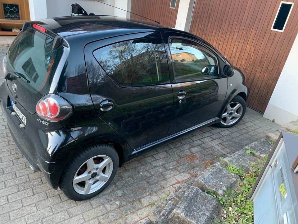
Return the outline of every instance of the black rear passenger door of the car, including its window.
{"type": "Polygon", "coordinates": [[[85,58],[90,93],[100,118],[132,149],[166,137],[173,91],[159,32],[93,42],[85,47],[85,58]]]}

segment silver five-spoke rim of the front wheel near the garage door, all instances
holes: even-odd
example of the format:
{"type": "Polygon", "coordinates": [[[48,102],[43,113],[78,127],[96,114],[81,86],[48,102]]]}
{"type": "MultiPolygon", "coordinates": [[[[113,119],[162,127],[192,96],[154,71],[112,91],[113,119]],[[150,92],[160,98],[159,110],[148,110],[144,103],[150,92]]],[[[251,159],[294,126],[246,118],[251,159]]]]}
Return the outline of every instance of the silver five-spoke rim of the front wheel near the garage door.
{"type": "Polygon", "coordinates": [[[224,109],[224,114],[221,116],[220,123],[224,125],[230,125],[236,123],[243,112],[243,107],[238,102],[229,103],[224,109]]]}

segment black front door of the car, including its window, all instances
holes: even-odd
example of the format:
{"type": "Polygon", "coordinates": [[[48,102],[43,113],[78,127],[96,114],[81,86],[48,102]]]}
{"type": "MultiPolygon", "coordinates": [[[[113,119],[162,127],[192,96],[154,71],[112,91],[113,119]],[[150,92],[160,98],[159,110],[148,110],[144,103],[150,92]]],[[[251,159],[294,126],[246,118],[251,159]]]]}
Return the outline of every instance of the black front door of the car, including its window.
{"type": "Polygon", "coordinates": [[[227,93],[219,58],[212,48],[187,35],[163,33],[172,64],[174,114],[168,136],[200,124],[214,123],[227,93]]]}

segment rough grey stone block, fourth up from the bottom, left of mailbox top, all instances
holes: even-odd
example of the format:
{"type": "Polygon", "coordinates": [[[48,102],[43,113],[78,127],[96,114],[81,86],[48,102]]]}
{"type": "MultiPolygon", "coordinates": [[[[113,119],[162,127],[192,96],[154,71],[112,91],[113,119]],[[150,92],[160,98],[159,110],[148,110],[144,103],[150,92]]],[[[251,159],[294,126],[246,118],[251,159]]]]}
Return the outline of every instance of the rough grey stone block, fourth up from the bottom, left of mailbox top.
{"type": "Polygon", "coordinates": [[[269,154],[273,145],[268,140],[260,139],[244,147],[245,150],[254,152],[254,156],[259,159],[264,159],[266,154],[269,154]]]}

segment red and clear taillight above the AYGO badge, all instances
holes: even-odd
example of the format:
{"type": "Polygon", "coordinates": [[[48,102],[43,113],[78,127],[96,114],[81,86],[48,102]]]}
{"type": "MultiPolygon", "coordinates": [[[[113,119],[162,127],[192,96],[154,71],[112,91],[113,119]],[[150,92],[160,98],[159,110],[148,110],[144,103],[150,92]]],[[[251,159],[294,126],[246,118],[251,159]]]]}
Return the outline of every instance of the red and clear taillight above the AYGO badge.
{"type": "Polygon", "coordinates": [[[60,121],[68,117],[72,106],[60,96],[49,94],[43,96],[36,104],[36,113],[48,121],[60,121]]]}

